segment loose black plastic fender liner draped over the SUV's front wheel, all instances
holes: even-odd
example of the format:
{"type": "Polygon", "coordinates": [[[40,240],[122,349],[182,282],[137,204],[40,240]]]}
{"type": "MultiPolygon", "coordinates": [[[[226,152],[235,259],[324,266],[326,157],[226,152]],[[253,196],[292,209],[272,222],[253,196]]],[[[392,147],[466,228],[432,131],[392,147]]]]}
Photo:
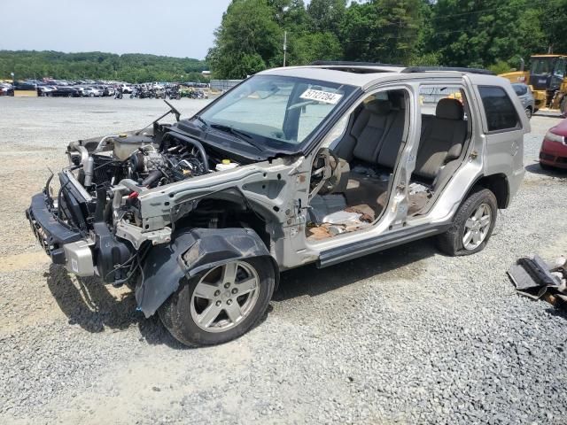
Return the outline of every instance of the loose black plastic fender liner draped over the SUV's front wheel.
{"type": "Polygon", "coordinates": [[[233,259],[268,257],[279,282],[279,269],[268,248],[251,228],[190,228],[175,232],[173,241],[153,247],[144,260],[144,281],[136,286],[136,302],[150,317],[188,278],[233,259]]]}

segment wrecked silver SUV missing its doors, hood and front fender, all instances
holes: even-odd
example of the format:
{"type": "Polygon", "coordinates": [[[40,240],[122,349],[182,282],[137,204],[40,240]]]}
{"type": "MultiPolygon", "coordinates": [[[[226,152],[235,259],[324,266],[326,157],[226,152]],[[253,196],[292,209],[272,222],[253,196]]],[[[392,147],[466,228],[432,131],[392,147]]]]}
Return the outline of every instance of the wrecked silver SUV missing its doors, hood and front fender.
{"type": "Polygon", "coordinates": [[[27,217],[54,263],[128,284],[183,344],[244,334],[292,267],[427,236],[482,250],[530,128],[485,71],[353,63],[268,70],[190,119],[171,112],[70,143],[27,217]]]}

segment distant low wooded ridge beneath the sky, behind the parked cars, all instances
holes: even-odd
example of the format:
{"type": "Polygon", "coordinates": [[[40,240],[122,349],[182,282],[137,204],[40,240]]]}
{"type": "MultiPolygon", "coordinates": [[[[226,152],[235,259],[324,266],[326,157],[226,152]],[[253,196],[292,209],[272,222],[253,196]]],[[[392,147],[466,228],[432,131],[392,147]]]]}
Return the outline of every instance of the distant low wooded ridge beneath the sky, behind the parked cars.
{"type": "Polygon", "coordinates": [[[145,54],[0,50],[0,78],[58,80],[206,81],[204,60],[145,54]]]}

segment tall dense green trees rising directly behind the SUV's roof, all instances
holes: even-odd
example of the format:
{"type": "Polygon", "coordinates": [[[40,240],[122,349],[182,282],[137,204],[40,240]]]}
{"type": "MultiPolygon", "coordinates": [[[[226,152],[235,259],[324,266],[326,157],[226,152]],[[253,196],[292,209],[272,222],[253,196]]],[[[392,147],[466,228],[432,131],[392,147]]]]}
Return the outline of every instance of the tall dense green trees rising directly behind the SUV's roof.
{"type": "Polygon", "coordinates": [[[206,60],[216,78],[354,60],[404,66],[517,67],[567,53],[567,0],[232,0],[206,60]]]}

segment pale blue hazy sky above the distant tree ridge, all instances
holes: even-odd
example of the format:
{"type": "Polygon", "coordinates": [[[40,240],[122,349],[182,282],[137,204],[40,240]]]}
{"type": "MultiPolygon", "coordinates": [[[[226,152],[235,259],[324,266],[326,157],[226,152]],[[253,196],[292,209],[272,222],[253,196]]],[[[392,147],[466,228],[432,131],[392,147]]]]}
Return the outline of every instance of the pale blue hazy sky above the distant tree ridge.
{"type": "Polygon", "coordinates": [[[0,50],[205,58],[230,0],[0,0],[0,50]]]}

